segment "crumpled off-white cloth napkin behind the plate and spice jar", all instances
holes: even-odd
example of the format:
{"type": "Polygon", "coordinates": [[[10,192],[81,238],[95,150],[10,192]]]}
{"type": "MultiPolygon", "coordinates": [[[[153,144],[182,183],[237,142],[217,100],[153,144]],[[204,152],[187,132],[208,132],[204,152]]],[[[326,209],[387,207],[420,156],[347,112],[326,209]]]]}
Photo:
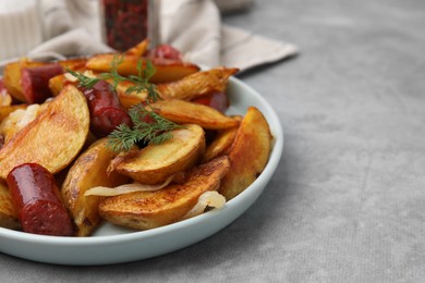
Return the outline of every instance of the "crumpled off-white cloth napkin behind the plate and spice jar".
{"type": "MultiPolygon", "coordinates": [[[[298,52],[296,46],[292,44],[223,25],[220,12],[228,12],[232,1],[239,2],[235,5],[238,8],[242,3],[252,2],[227,0],[223,5],[218,0],[161,0],[160,42],[180,49],[185,59],[194,63],[211,67],[235,66],[241,71],[279,61],[298,52]]],[[[39,0],[39,11],[46,40],[28,49],[29,57],[111,51],[100,40],[97,0],[39,0]]]]}

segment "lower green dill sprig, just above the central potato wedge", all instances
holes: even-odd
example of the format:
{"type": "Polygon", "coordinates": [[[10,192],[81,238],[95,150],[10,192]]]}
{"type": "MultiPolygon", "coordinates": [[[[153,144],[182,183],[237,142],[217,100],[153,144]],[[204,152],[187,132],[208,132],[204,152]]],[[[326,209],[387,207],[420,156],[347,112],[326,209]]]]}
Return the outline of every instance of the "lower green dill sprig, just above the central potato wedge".
{"type": "Polygon", "coordinates": [[[121,124],[108,136],[108,147],[112,151],[127,151],[138,143],[162,144],[172,138],[170,131],[183,127],[146,109],[142,103],[132,107],[129,115],[133,127],[121,124]]]}

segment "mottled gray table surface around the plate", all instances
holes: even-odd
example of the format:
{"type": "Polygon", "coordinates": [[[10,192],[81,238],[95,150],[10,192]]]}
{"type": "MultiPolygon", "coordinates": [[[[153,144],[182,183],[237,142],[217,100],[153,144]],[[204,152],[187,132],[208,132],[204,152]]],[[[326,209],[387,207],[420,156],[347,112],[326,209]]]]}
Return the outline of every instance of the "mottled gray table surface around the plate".
{"type": "Polygon", "coordinates": [[[425,2],[267,0],[223,21],[301,49],[241,76],[286,135],[258,200],[148,260],[81,268],[0,254],[1,282],[425,281],[425,2]]]}

